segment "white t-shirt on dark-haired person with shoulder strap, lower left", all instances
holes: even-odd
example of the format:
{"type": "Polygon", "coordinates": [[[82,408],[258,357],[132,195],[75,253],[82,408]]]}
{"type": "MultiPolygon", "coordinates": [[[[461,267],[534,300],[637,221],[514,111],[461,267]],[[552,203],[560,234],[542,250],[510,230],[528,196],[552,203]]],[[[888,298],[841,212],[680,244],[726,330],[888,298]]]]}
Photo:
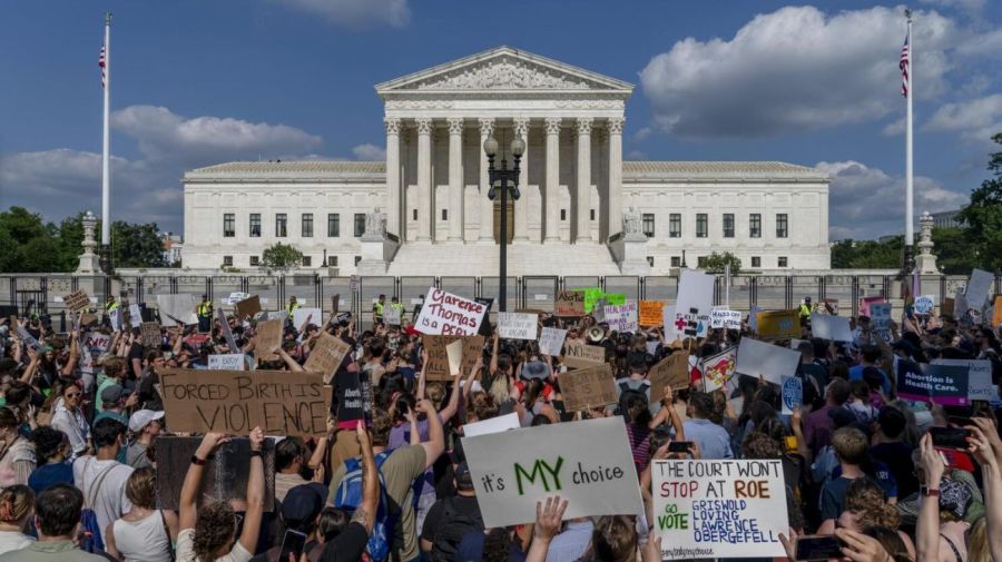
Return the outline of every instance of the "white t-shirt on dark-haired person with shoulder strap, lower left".
{"type": "Polygon", "coordinates": [[[73,461],[73,483],[84,492],[85,507],[94,510],[102,532],[112,521],[132,509],[132,503],[125,496],[126,481],[132,475],[132,470],[114,459],[98,461],[94,456],[81,456],[73,461]],[[104,481],[98,489],[98,480],[102,474],[104,481]],[[94,501],[94,505],[87,505],[88,501],[94,501]]]}

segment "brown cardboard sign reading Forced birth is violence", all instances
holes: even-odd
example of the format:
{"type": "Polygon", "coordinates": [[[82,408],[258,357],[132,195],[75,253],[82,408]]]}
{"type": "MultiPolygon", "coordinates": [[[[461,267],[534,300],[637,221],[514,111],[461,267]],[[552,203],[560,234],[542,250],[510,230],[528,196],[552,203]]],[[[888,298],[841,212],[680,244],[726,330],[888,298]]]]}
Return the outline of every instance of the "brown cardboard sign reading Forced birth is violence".
{"type": "Polygon", "coordinates": [[[175,432],[246,435],[327,434],[331,387],[318,373],[168,369],[160,374],[164,410],[175,432]]]}

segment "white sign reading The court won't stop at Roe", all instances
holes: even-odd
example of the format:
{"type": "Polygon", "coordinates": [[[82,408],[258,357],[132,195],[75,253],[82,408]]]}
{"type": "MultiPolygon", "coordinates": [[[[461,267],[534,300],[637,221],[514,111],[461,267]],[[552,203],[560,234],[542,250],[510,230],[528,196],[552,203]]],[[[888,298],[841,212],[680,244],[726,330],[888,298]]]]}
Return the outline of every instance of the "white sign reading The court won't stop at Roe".
{"type": "Polygon", "coordinates": [[[652,461],[650,473],[662,560],[786,556],[782,461],[652,461]]]}

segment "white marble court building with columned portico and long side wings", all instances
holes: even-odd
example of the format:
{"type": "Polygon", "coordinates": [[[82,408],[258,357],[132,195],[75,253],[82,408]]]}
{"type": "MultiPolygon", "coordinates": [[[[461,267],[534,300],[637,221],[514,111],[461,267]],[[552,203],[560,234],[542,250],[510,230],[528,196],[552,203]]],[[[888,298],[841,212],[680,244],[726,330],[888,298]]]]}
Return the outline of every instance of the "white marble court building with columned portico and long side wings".
{"type": "MultiPolygon", "coordinates": [[[[375,87],[383,161],[237,161],[184,176],[183,264],[254,270],[289,244],[336,275],[498,273],[483,141],[521,160],[509,275],[665,275],[730,252],[762,272],[827,269],[828,178],[779,161],[630,161],[633,86],[499,47],[375,87]],[[684,254],[685,252],[685,254],[684,254]]],[[[498,198],[500,199],[500,198],[498,198]]]]}

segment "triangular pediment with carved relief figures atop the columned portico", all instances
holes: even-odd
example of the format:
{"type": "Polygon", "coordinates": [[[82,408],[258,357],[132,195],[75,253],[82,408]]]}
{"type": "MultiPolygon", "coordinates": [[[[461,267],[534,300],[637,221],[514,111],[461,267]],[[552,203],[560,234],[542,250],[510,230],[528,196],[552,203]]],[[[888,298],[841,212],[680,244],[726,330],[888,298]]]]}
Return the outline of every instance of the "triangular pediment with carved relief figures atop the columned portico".
{"type": "Polygon", "coordinates": [[[376,85],[376,91],[618,91],[633,85],[511,47],[498,47],[376,85]]]}

